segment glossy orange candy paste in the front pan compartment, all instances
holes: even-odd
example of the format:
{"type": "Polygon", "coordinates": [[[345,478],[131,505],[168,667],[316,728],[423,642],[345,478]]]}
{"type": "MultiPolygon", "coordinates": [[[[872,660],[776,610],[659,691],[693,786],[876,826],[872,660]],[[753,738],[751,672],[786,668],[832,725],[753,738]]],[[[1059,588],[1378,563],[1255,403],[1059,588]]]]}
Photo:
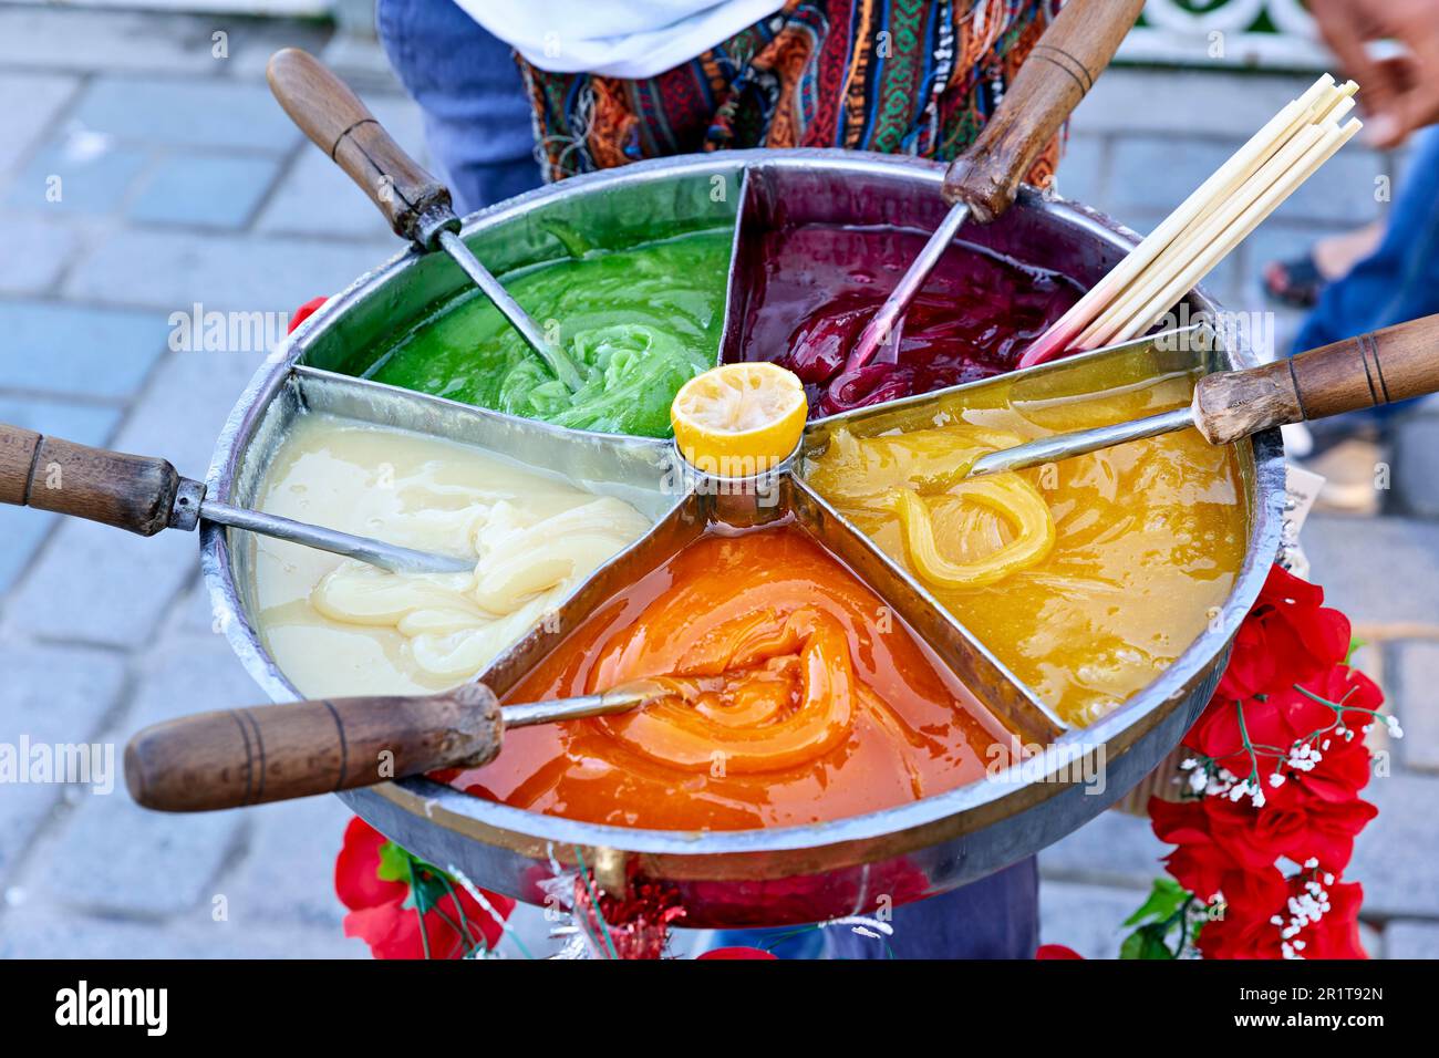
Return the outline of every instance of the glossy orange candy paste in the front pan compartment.
{"type": "Polygon", "coordinates": [[[797,528],[705,535],[619,593],[509,694],[671,677],[616,717],[517,728],[450,780],[517,808],[650,829],[750,829],[963,786],[1012,736],[797,528]]]}

